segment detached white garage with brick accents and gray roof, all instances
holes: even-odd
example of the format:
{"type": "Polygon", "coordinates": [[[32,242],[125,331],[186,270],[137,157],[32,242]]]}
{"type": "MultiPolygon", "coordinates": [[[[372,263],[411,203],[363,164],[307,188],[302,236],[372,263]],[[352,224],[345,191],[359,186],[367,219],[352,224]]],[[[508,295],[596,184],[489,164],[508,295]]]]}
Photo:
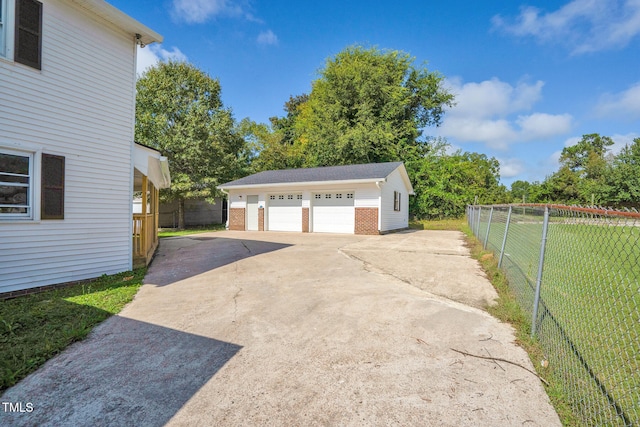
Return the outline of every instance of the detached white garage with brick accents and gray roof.
{"type": "Polygon", "coordinates": [[[265,171],[220,185],[230,230],[380,234],[409,226],[402,162],[265,171]]]}

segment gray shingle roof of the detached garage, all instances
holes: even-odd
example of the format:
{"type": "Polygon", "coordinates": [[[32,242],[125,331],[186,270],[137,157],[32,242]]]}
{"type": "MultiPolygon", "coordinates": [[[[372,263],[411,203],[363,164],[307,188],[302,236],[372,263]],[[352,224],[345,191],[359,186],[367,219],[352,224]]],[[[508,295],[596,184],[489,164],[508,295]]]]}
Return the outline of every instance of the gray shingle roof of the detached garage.
{"type": "Polygon", "coordinates": [[[384,179],[402,162],[368,163],[364,165],[326,166],[320,168],[283,169],[259,172],[219,185],[221,188],[295,182],[347,181],[384,179]]]}

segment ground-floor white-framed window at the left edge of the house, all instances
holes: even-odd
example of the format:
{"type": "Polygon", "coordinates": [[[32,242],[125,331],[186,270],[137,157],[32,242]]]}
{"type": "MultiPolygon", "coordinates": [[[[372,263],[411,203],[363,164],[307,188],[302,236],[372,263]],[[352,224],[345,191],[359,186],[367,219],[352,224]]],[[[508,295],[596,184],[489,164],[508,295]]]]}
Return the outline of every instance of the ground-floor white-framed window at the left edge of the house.
{"type": "Polygon", "coordinates": [[[33,218],[33,153],[0,151],[0,218],[33,218]]]}

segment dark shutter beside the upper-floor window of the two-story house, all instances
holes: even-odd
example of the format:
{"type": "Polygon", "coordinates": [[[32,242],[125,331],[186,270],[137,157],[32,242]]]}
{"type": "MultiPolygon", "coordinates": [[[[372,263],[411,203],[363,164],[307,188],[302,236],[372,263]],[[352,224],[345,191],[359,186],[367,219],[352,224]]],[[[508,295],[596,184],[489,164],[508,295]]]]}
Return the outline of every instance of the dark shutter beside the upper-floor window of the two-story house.
{"type": "Polygon", "coordinates": [[[14,58],[29,67],[42,69],[42,3],[16,0],[14,58]]]}

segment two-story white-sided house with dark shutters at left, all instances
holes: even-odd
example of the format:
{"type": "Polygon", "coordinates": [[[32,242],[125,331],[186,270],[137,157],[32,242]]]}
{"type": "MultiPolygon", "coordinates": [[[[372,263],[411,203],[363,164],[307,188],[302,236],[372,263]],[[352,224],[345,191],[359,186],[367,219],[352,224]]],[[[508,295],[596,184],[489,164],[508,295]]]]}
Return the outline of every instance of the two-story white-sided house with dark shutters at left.
{"type": "Polygon", "coordinates": [[[102,0],[0,0],[0,294],[131,269],[136,45],[160,41],[102,0]]]}

